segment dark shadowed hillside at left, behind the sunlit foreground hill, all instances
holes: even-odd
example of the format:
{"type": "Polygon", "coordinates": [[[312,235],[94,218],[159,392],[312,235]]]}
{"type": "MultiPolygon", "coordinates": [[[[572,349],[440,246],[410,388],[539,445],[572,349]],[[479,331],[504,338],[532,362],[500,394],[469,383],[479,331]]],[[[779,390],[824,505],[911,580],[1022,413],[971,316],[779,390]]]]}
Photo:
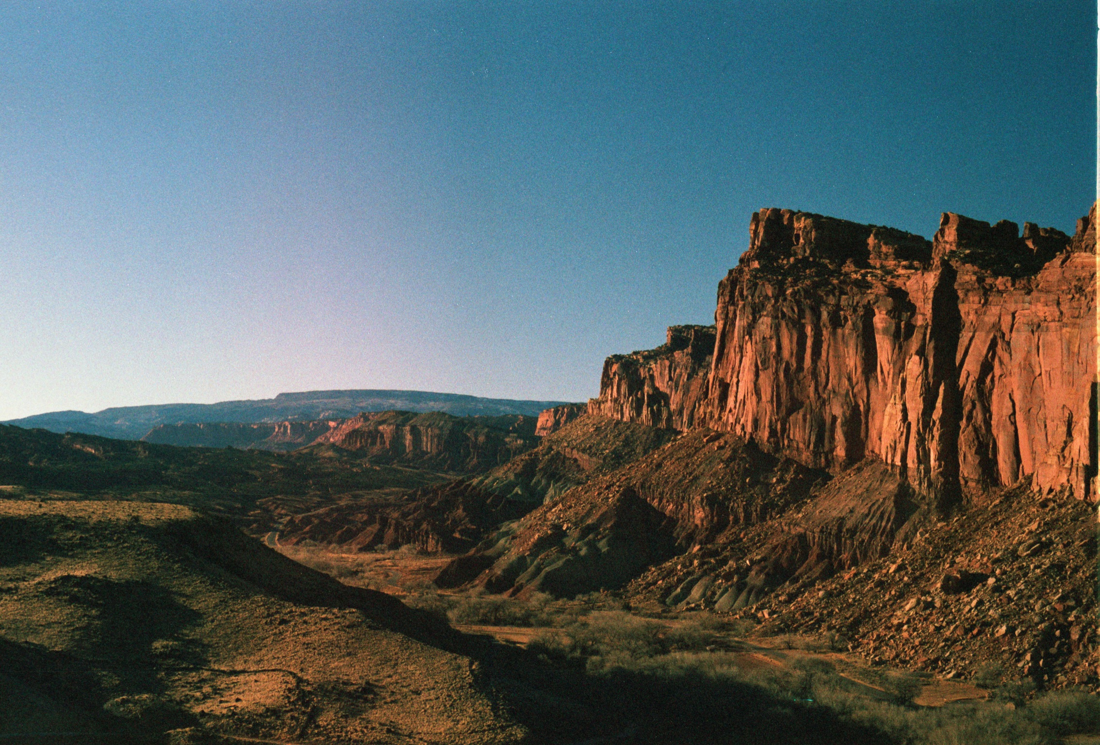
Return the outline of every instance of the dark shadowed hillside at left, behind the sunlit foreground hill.
{"type": "Polygon", "coordinates": [[[0,425],[0,487],[10,496],[174,502],[256,533],[323,504],[448,479],[332,446],[282,454],[175,447],[0,425]]]}

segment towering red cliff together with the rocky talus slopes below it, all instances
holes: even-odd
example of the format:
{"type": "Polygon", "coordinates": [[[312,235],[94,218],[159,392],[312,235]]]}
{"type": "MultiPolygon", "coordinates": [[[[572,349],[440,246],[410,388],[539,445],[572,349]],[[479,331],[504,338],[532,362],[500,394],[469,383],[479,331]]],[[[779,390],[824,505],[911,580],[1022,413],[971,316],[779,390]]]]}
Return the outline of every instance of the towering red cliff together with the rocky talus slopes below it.
{"type": "Polygon", "coordinates": [[[609,357],[578,420],[663,446],[553,478],[532,451],[481,477],[551,486],[437,582],[606,589],[832,634],[872,664],[1100,690],[1094,220],[1021,236],[945,213],[930,242],[755,214],[717,326],[609,357]]]}

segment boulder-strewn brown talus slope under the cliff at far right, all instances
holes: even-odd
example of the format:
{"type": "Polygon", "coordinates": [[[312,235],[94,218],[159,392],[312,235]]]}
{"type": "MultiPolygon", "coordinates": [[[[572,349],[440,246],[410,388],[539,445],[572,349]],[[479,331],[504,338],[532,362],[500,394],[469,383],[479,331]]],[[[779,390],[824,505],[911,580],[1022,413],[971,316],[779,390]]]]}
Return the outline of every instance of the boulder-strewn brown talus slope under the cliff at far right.
{"type": "MultiPolygon", "coordinates": [[[[789,522],[804,524],[803,510],[789,522]]],[[[851,545],[865,554],[836,561],[835,572],[788,572],[769,594],[757,578],[774,577],[784,557],[772,527],[653,566],[625,593],[732,611],[763,634],[826,636],[872,665],[1100,688],[1096,516],[1081,501],[998,489],[954,518],[911,520],[916,530],[895,533],[889,552],[860,542],[851,545]]]]}

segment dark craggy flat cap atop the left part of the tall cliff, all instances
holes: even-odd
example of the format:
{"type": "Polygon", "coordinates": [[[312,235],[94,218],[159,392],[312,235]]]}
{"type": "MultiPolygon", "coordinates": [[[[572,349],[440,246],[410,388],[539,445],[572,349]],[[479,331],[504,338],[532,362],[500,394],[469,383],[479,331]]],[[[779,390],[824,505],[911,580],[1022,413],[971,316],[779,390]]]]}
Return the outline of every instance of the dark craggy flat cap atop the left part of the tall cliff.
{"type": "Polygon", "coordinates": [[[806,260],[840,267],[927,264],[932,244],[893,227],[862,225],[811,212],[766,208],[752,214],[741,266],[788,266],[806,260]]]}

